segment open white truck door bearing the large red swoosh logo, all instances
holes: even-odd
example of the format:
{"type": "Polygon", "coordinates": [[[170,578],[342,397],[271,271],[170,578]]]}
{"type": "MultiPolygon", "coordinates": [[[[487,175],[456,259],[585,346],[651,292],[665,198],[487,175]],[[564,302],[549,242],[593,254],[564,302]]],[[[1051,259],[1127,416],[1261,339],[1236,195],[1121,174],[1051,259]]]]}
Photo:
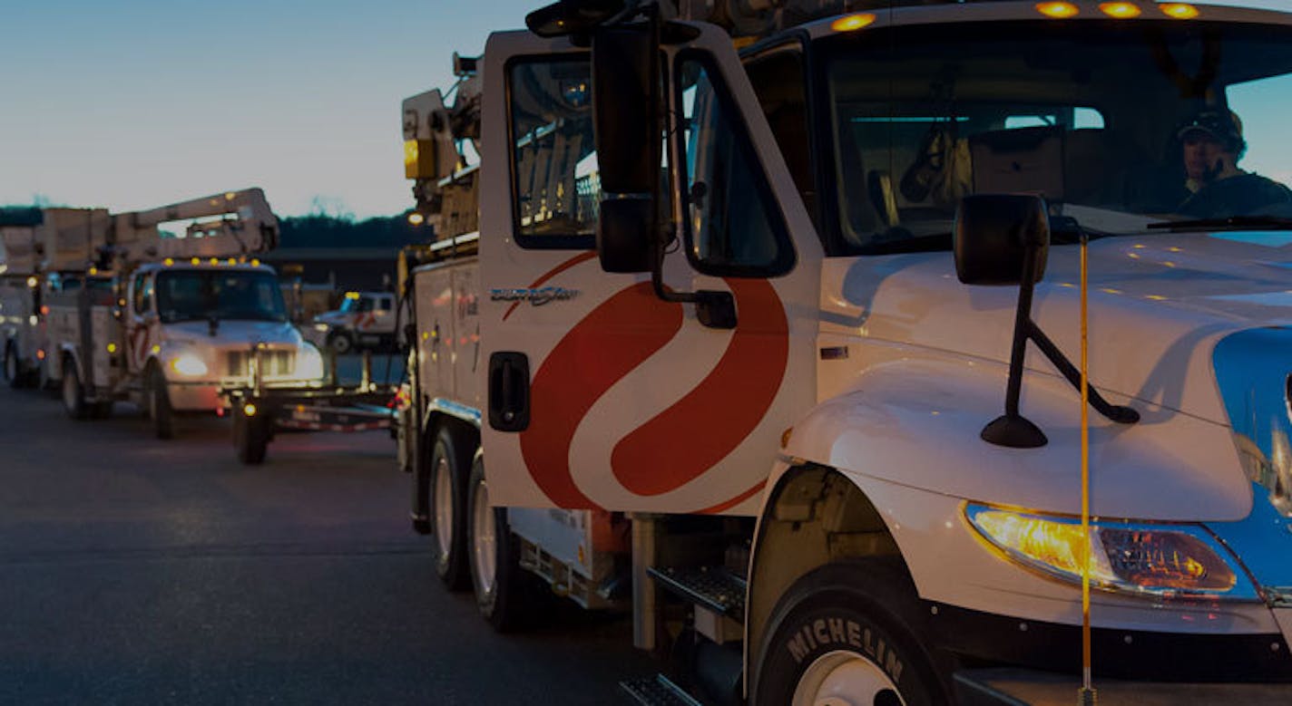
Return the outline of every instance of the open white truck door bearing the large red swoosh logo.
{"type": "MultiPolygon", "coordinates": [[[[730,292],[734,329],[606,274],[590,63],[565,40],[486,49],[482,440],[505,506],[756,511],[815,398],[820,245],[730,39],[667,49],[674,290],[730,292]]],[[[663,172],[663,169],[662,169],[663,172]]]]}

